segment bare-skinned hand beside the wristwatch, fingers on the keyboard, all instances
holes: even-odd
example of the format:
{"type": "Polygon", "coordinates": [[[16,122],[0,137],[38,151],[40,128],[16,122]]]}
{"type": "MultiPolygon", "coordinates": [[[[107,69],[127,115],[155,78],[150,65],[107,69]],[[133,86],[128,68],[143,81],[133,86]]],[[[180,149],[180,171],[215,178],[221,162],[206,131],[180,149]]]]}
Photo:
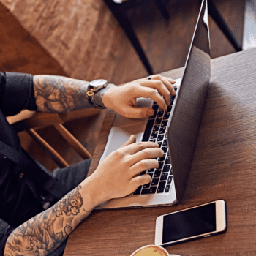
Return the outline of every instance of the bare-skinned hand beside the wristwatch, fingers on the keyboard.
{"type": "Polygon", "coordinates": [[[153,116],[154,110],[152,108],[137,108],[136,99],[140,97],[151,98],[157,102],[160,108],[166,110],[167,106],[170,105],[170,95],[176,94],[173,89],[174,83],[175,80],[171,78],[152,75],[150,80],[143,78],[124,86],[111,86],[102,95],[102,102],[106,108],[111,108],[125,117],[145,118],[146,116],[153,116]]]}

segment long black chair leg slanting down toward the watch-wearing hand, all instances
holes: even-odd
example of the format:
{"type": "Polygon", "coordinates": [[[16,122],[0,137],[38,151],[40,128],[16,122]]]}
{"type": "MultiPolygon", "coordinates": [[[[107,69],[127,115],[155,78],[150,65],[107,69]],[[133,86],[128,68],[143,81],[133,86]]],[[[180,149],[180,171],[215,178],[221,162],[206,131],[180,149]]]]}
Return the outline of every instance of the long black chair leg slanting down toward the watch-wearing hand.
{"type": "Polygon", "coordinates": [[[151,68],[151,65],[148,62],[148,59],[143,51],[143,48],[141,48],[140,42],[135,34],[134,29],[132,28],[132,24],[130,23],[129,18],[127,18],[127,15],[124,12],[122,12],[121,9],[116,7],[116,4],[114,4],[112,0],[104,1],[110,8],[113,15],[116,17],[116,20],[118,20],[118,23],[120,24],[121,28],[124,29],[125,34],[127,34],[127,37],[129,38],[130,42],[132,43],[133,47],[138,53],[138,56],[140,57],[140,60],[143,62],[144,67],[148,71],[148,74],[152,75],[153,70],[151,68]]]}

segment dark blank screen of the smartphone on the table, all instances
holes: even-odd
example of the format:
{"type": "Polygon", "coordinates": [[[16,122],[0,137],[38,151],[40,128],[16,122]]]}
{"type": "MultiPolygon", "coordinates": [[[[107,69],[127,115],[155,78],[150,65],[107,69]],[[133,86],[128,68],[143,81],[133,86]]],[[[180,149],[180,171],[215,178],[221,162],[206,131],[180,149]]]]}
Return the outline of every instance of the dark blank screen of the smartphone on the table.
{"type": "Polygon", "coordinates": [[[216,230],[216,206],[210,203],[164,216],[162,244],[216,230]]]}

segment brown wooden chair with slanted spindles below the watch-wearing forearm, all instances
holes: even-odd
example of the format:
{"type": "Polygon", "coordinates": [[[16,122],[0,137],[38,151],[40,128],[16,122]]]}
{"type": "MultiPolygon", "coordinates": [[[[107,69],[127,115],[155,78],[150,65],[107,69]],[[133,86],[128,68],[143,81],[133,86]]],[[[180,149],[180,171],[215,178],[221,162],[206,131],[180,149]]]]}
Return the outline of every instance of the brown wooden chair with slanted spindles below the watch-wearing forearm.
{"type": "Polygon", "coordinates": [[[61,136],[67,140],[72,148],[83,159],[91,158],[90,152],[64,127],[67,121],[77,120],[79,118],[87,118],[99,114],[99,109],[77,110],[69,113],[40,113],[36,111],[23,110],[16,116],[7,117],[7,121],[15,128],[17,132],[26,131],[29,133],[39,146],[54,160],[60,167],[69,166],[67,161],[45,141],[36,131],[37,128],[54,126],[61,136]]]}

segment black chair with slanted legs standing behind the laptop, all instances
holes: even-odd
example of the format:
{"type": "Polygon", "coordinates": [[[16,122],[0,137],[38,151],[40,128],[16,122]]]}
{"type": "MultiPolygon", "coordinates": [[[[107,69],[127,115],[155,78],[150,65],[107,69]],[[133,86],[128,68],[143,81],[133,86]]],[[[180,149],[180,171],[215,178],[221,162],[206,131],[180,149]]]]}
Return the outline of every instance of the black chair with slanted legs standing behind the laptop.
{"type": "MultiPolygon", "coordinates": [[[[149,4],[151,1],[154,1],[154,4],[156,4],[162,16],[166,20],[169,20],[170,15],[167,9],[165,8],[165,4],[163,4],[162,0],[104,0],[104,1],[105,1],[105,4],[108,5],[113,15],[115,16],[116,20],[118,20],[118,23],[120,24],[121,28],[124,30],[125,34],[127,34],[127,37],[129,38],[130,42],[132,43],[133,47],[138,53],[138,56],[140,57],[140,60],[143,62],[144,67],[146,68],[148,74],[152,75],[153,69],[149,64],[148,58],[146,57],[146,54],[144,53],[143,48],[140,45],[138,37],[135,34],[135,31],[132,27],[132,23],[130,22],[127,16],[127,11],[131,10],[132,8],[139,7],[141,5],[146,5],[146,4],[149,4]]],[[[202,2],[202,0],[198,0],[198,1],[200,3],[202,2]]],[[[211,15],[215,23],[217,23],[217,25],[219,26],[219,29],[222,30],[223,34],[225,34],[225,37],[227,37],[227,39],[230,41],[230,43],[233,45],[236,51],[242,50],[241,45],[239,45],[233,32],[230,31],[229,27],[227,26],[227,23],[225,23],[225,20],[222,18],[222,15],[220,15],[213,0],[208,0],[208,11],[209,11],[209,15],[211,15]]]]}

